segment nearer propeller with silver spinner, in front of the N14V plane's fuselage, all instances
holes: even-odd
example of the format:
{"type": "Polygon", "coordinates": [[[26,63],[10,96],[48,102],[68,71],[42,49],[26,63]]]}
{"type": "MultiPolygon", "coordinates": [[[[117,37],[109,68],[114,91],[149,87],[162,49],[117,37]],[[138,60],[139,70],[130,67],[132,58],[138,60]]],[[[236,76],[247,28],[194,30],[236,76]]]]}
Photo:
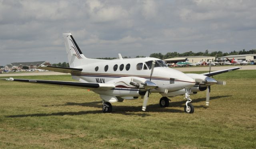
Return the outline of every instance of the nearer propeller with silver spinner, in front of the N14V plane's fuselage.
{"type": "Polygon", "coordinates": [[[152,74],[153,74],[153,71],[154,71],[155,64],[156,64],[156,61],[153,60],[152,61],[152,67],[151,67],[151,73],[150,73],[150,79],[149,79],[149,81],[146,81],[145,84],[143,84],[144,88],[147,89],[147,91],[146,91],[146,94],[144,95],[142,111],[146,111],[146,107],[147,107],[147,103],[148,103],[148,97],[149,97],[149,94],[150,94],[150,89],[156,87],[156,84],[151,81],[151,77],[152,77],[152,74]]]}

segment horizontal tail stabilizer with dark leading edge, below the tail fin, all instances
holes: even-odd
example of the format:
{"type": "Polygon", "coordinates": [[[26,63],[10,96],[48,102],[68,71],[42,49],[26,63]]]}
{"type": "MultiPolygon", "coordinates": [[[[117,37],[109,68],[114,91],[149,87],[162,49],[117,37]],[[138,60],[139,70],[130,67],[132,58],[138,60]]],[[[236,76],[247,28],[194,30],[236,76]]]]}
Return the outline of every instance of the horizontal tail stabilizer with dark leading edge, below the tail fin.
{"type": "Polygon", "coordinates": [[[41,65],[37,69],[41,70],[50,70],[54,72],[62,72],[62,73],[74,73],[74,72],[81,72],[82,68],[66,68],[66,67],[55,67],[55,66],[44,66],[41,65]]]}

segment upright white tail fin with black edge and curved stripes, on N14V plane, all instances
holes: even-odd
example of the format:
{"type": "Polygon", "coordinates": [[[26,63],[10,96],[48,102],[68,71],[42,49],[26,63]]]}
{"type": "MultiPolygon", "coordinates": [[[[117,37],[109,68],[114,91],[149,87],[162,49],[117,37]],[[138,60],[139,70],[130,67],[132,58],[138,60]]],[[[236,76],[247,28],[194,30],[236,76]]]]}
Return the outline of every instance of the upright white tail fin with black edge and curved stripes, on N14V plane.
{"type": "Polygon", "coordinates": [[[76,44],[76,41],[74,40],[71,33],[63,34],[63,38],[68,54],[68,63],[70,67],[74,68],[76,66],[80,66],[80,60],[86,59],[86,57],[84,56],[84,54],[82,54],[82,51],[76,44]]]}

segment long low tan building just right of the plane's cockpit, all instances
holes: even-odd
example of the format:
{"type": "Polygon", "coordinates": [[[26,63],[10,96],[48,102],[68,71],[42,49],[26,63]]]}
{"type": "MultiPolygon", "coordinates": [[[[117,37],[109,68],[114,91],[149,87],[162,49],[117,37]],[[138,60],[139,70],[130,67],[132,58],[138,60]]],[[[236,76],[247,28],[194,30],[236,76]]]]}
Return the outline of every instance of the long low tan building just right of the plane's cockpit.
{"type": "Polygon", "coordinates": [[[177,62],[186,62],[189,63],[196,63],[196,62],[208,62],[209,60],[214,61],[214,56],[184,56],[184,57],[176,57],[176,58],[168,58],[164,61],[166,63],[177,63],[177,62]]]}

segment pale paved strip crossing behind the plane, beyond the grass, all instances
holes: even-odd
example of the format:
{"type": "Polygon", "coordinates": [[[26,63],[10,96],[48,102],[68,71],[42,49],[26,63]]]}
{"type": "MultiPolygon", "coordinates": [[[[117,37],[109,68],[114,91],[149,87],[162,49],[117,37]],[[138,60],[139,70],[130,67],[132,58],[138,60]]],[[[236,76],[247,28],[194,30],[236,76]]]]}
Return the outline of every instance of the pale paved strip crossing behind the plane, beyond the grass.
{"type": "MultiPolygon", "coordinates": [[[[224,70],[228,68],[240,67],[239,70],[256,70],[256,65],[246,65],[246,66],[212,66],[211,71],[216,70],[224,70]]],[[[174,68],[175,70],[181,72],[197,72],[197,71],[208,71],[209,67],[181,67],[181,68],[174,68]]],[[[60,72],[26,72],[26,73],[2,73],[0,76],[29,76],[29,75],[68,75],[60,72]]]]}

